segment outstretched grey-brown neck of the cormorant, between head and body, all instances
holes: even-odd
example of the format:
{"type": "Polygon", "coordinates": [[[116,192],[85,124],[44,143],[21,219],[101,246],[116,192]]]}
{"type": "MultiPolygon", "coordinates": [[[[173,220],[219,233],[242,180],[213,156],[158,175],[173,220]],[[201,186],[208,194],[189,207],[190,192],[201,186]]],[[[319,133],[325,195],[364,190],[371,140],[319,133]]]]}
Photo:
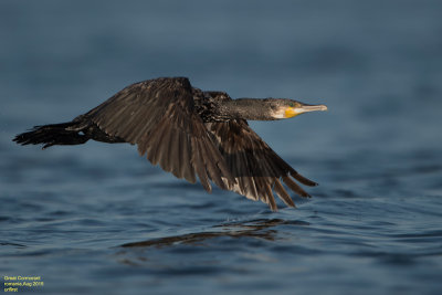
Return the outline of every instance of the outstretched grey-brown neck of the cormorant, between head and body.
{"type": "Polygon", "coordinates": [[[217,113],[225,119],[274,120],[272,109],[262,98],[219,102],[217,113]]]}

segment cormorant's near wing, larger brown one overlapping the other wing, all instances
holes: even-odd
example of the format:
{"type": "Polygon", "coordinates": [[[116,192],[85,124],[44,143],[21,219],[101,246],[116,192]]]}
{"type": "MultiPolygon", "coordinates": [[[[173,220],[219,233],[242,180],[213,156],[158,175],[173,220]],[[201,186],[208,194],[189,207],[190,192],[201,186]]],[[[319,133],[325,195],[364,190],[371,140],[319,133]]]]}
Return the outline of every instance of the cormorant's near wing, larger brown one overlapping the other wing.
{"type": "Polygon", "coordinates": [[[201,118],[193,112],[192,87],[186,77],[133,84],[84,116],[106,134],[123,138],[147,154],[152,165],[206,190],[211,179],[231,189],[234,179],[201,118]]]}

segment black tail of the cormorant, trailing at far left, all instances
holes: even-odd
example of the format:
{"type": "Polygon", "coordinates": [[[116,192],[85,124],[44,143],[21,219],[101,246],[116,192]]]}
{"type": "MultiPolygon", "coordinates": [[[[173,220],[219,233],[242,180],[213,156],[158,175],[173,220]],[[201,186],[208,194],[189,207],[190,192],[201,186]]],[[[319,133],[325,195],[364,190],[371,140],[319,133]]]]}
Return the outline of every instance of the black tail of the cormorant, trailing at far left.
{"type": "Polygon", "coordinates": [[[12,140],[19,145],[44,145],[45,149],[54,145],[82,145],[90,139],[81,134],[78,123],[69,122],[34,126],[30,131],[17,135],[12,140]]]}

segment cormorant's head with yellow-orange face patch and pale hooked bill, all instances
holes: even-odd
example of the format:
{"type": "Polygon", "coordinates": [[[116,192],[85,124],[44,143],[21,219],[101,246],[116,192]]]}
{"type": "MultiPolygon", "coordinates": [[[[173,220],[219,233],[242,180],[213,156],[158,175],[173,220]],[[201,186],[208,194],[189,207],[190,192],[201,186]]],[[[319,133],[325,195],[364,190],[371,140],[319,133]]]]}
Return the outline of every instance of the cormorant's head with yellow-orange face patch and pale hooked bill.
{"type": "Polygon", "coordinates": [[[325,105],[307,105],[288,98],[271,98],[271,104],[274,119],[292,118],[307,112],[327,110],[325,105]]]}

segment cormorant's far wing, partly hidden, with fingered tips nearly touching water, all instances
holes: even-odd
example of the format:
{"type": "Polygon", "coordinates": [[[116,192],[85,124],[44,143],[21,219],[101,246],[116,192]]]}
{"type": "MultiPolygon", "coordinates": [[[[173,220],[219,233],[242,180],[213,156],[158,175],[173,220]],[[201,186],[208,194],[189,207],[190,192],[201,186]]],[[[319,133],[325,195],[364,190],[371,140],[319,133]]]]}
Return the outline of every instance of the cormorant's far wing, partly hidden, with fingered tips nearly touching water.
{"type": "Polygon", "coordinates": [[[292,178],[306,186],[316,186],[296,172],[249,127],[246,120],[207,123],[236,185],[233,191],[248,199],[261,200],[277,210],[273,191],[290,207],[295,207],[281,180],[294,192],[309,197],[292,178]]]}

